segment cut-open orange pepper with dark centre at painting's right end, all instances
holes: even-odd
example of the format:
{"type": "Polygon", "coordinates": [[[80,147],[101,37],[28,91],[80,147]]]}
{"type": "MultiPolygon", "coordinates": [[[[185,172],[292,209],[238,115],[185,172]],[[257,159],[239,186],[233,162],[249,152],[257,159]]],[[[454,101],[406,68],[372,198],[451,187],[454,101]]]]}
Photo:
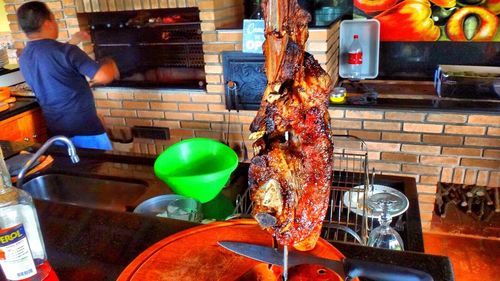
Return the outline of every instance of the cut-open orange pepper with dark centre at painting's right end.
{"type": "Polygon", "coordinates": [[[459,9],[446,23],[446,34],[451,41],[491,41],[497,29],[497,16],[479,6],[459,9]]]}

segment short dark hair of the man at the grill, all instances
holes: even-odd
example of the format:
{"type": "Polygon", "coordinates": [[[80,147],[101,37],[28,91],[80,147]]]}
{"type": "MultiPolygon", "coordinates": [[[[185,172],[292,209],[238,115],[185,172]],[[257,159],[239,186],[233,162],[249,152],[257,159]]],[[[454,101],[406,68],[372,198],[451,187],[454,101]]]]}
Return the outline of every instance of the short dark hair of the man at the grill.
{"type": "Polygon", "coordinates": [[[26,34],[40,31],[42,24],[50,20],[51,12],[45,3],[33,1],[24,3],[17,9],[17,20],[26,34]]]}

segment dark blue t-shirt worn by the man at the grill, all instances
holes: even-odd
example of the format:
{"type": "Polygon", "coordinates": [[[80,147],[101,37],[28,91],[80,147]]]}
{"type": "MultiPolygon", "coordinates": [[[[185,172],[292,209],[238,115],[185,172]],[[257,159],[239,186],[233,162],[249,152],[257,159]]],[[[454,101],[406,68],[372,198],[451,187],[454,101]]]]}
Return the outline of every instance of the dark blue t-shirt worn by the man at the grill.
{"type": "Polygon", "coordinates": [[[19,65],[50,134],[72,137],[105,132],[85,78],[93,78],[100,66],[80,48],[51,39],[30,41],[19,65]]]}

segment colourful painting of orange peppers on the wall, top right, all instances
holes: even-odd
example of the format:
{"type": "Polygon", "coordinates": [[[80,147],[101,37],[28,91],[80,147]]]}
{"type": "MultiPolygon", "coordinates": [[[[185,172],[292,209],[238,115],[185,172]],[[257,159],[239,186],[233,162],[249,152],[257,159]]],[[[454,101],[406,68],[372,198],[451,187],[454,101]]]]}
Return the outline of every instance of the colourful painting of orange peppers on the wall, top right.
{"type": "Polygon", "coordinates": [[[500,0],[354,0],[380,21],[381,41],[499,42],[500,0]]]}

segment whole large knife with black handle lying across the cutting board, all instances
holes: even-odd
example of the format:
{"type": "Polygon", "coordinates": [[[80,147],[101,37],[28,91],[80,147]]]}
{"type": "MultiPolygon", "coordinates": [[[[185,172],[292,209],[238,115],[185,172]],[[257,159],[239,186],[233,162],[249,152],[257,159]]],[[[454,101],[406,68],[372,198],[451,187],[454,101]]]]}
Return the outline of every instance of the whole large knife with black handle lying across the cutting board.
{"type": "MultiPolygon", "coordinates": [[[[283,266],[283,252],[270,247],[231,241],[219,241],[223,248],[260,262],[283,266]]],[[[380,281],[432,281],[429,274],[407,267],[344,258],[341,261],[324,259],[298,252],[288,254],[288,266],[319,264],[335,271],[343,280],[365,277],[380,281]]]]}

